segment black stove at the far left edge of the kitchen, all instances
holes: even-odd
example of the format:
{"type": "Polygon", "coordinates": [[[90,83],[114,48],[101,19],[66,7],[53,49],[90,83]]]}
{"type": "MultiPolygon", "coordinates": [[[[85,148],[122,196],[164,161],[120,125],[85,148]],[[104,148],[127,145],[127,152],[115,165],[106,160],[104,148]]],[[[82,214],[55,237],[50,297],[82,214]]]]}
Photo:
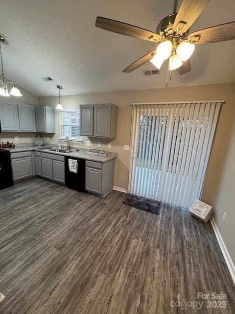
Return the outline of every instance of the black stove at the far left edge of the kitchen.
{"type": "Polygon", "coordinates": [[[0,189],[13,185],[10,152],[0,149],[0,189]]]}

